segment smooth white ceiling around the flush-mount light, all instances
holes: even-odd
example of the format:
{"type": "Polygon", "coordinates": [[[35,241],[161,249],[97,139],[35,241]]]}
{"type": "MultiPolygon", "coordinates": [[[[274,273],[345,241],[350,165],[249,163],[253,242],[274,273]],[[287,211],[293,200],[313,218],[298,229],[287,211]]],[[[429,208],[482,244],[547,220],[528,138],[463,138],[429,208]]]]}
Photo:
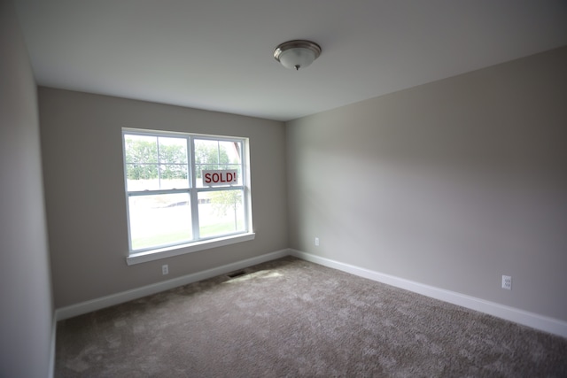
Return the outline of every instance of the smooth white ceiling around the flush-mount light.
{"type": "Polygon", "coordinates": [[[39,85],[292,120],[567,45],[565,0],[15,0],[39,85]],[[322,55],[295,72],[292,39],[322,55]]]}

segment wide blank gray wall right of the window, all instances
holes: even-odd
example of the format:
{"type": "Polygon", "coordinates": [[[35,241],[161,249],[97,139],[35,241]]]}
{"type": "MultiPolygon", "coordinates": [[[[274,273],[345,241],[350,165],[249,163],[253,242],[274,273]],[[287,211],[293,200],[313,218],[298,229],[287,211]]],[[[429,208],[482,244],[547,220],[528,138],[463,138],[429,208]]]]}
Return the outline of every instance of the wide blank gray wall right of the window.
{"type": "Polygon", "coordinates": [[[567,320],[566,67],[564,47],[289,122],[290,247],[567,320]]]}

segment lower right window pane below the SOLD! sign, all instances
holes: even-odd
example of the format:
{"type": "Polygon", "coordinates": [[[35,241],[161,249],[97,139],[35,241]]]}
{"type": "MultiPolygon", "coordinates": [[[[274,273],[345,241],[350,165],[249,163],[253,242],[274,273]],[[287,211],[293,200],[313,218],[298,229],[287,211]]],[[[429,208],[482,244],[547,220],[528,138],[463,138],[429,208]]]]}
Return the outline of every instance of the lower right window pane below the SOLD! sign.
{"type": "Polygon", "coordinates": [[[243,190],[198,193],[198,220],[201,237],[245,231],[243,190]]]}

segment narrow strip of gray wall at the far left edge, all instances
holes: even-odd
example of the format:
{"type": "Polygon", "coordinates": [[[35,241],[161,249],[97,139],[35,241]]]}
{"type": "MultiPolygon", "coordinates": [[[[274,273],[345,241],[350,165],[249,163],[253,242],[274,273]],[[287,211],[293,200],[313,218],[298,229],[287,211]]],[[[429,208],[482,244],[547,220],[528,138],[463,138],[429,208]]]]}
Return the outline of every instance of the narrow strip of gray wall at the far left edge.
{"type": "Polygon", "coordinates": [[[50,374],[53,305],[33,73],[0,0],[0,376],[50,374]]]}

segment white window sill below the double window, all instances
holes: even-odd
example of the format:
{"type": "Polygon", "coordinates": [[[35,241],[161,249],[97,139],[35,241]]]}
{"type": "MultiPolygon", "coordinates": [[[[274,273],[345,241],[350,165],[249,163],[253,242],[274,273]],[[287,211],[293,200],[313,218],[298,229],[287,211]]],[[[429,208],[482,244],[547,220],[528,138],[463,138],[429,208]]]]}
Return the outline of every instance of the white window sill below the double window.
{"type": "Polygon", "coordinates": [[[253,240],[256,234],[253,232],[247,234],[230,235],[219,237],[217,239],[205,240],[202,242],[175,245],[174,247],[161,248],[158,250],[144,251],[134,253],[126,258],[128,266],[146,263],[149,261],[159,260],[160,258],[171,258],[174,256],[184,255],[186,253],[204,251],[211,248],[222,247],[235,243],[247,242],[253,240]]]}

